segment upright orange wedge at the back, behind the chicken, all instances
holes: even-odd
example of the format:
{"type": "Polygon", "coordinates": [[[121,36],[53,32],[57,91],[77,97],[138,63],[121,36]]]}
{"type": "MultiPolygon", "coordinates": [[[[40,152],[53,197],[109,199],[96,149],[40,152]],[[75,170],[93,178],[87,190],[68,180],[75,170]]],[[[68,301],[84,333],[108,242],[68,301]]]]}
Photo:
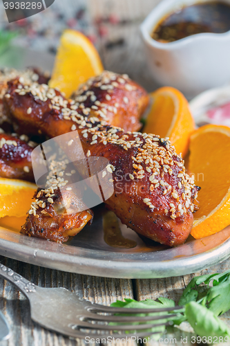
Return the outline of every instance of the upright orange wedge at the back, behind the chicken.
{"type": "Polygon", "coordinates": [[[90,77],[104,70],[95,46],[79,31],[67,29],[61,35],[49,85],[67,98],[90,77]]]}

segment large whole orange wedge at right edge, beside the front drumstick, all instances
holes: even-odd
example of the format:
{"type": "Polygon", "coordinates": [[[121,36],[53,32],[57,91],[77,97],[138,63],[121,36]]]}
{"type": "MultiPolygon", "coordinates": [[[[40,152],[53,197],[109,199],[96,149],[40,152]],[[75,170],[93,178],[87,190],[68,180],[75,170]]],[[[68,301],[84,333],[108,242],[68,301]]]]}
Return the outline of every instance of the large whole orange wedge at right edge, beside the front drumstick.
{"type": "Polygon", "coordinates": [[[192,134],[189,149],[189,171],[201,187],[191,235],[200,239],[230,224],[230,128],[200,127],[192,134]]]}

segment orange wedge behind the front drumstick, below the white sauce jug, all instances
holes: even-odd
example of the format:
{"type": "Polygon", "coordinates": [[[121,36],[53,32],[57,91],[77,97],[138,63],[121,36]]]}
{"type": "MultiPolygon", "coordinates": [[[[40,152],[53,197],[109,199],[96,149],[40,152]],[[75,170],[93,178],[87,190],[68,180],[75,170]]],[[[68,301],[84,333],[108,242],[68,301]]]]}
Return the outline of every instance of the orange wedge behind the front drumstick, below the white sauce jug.
{"type": "Polygon", "coordinates": [[[195,129],[195,122],[189,104],[182,93],[164,86],[150,94],[153,103],[146,119],[143,132],[169,137],[178,154],[185,156],[189,138],[195,129]]]}

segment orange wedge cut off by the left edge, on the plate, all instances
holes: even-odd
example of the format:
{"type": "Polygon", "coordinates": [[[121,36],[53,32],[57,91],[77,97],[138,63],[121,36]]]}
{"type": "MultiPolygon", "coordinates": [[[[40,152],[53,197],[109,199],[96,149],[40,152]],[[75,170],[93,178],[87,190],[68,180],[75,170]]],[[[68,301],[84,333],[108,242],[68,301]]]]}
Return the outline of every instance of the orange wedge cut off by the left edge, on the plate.
{"type": "Polygon", "coordinates": [[[0,217],[24,217],[36,190],[33,183],[0,178],[0,217]]]}

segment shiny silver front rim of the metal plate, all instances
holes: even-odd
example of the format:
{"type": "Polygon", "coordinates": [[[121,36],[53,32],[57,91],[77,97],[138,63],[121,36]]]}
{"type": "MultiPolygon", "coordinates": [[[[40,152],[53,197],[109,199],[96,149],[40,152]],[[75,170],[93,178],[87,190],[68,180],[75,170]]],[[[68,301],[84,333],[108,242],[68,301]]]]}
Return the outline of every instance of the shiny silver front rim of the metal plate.
{"type": "MultiPolygon", "coordinates": [[[[226,228],[224,230],[226,230],[226,228]]],[[[224,230],[220,232],[223,232],[224,230]]],[[[52,248],[55,248],[55,245],[53,244],[56,244],[56,247],[68,245],[51,243],[44,241],[44,239],[33,238],[41,242],[41,244],[42,242],[46,242],[44,243],[44,246],[46,246],[45,249],[36,248],[36,246],[34,248],[27,244],[19,244],[19,237],[25,237],[25,235],[0,227],[0,255],[21,262],[70,273],[120,279],[151,279],[187,275],[214,266],[230,257],[230,233],[227,236],[227,239],[225,239],[221,244],[208,249],[207,251],[189,255],[187,257],[182,256],[160,262],[153,262],[150,260],[151,258],[148,258],[148,260],[135,260],[135,253],[117,253],[119,254],[119,257],[121,257],[121,260],[119,261],[106,260],[103,259],[103,256],[102,258],[92,258],[89,254],[92,252],[95,254],[98,253],[98,251],[88,248],[82,248],[84,249],[83,252],[86,253],[85,255],[82,255],[82,253],[79,253],[79,255],[72,255],[65,253],[65,251],[57,253],[55,251],[50,251],[48,244],[51,244],[52,248]],[[9,232],[10,235],[15,233],[15,242],[2,238],[2,233],[6,233],[7,236],[9,232]],[[126,255],[128,260],[126,259],[126,255]],[[122,256],[124,257],[124,260],[122,260],[122,256]],[[133,259],[132,263],[131,259],[133,259]]],[[[81,248],[77,246],[72,246],[72,248],[81,252],[79,250],[81,248]]],[[[108,251],[102,251],[102,255],[103,252],[110,253],[108,251]]],[[[153,253],[156,252],[159,253],[159,251],[154,251],[153,253]]],[[[147,257],[151,257],[151,252],[143,253],[143,255],[144,254],[146,254],[147,257]]]]}

